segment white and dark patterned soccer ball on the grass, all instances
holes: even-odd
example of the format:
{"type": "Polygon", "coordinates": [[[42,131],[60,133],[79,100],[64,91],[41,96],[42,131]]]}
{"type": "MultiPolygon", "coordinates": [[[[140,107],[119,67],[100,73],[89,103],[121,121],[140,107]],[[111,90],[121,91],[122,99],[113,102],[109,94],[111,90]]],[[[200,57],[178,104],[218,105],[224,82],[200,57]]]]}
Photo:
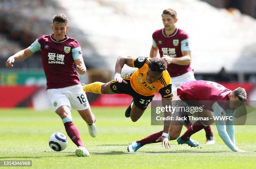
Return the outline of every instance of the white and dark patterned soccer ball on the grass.
{"type": "Polygon", "coordinates": [[[51,134],[49,138],[49,146],[56,152],[66,149],[67,143],[67,137],[62,133],[51,134]]]}

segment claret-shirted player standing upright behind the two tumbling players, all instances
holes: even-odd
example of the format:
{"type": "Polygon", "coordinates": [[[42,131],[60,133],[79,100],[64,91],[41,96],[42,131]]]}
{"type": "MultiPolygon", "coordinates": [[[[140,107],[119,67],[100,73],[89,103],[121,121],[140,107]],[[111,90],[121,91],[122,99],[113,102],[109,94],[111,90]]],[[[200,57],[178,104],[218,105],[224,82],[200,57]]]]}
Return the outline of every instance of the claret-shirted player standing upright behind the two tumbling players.
{"type": "MultiPolygon", "coordinates": [[[[177,12],[173,9],[165,9],[162,13],[164,28],[156,30],[153,37],[153,44],[150,50],[150,57],[160,57],[167,63],[167,71],[172,78],[172,91],[184,82],[194,81],[194,72],[191,68],[191,49],[187,32],[176,27],[177,12]]],[[[188,120],[186,127],[191,126],[188,120]]],[[[204,128],[206,132],[205,144],[215,144],[215,138],[210,126],[204,128]]]]}

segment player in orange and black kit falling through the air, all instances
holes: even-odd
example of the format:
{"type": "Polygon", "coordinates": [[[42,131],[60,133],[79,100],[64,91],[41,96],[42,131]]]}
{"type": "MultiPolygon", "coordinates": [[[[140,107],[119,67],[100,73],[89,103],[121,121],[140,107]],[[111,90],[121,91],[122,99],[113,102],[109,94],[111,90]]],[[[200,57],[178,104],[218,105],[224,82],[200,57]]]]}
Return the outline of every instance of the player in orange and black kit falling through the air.
{"type": "MultiPolygon", "coordinates": [[[[94,82],[83,88],[85,92],[98,94],[123,93],[131,95],[133,100],[126,109],[125,116],[131,117],[131,120],[136,122],[156,93],[161,94],[163,105],[172,104],[172,82],[166,67],[166,62],[160,58],[118,57],[115,64],[114,80],[108,83],[94,82]],[[125,64],[138,69],[121,77],[121,70],[125,64]]],[[[159,139],[167,144],[169,126],[167,126],[168,128],[166,126],[164,126],[164,132],[159,139]]]]}

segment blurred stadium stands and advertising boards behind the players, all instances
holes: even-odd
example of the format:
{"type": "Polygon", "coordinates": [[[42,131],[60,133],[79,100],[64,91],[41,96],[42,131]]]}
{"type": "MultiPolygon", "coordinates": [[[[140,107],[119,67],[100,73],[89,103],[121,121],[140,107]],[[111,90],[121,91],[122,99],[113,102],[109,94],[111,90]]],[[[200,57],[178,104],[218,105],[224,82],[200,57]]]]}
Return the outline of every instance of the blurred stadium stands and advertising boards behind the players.
{"type": "MultiPolygon", "coordinates": [[[[108,82],[118,56],[149,56],[152,32],[162,27],[166,7],[177,10],[177,27],[190,36],[196,79],[225,82],[230,89],[245,87],[249,100],[255,100],[254,0],[0,0],[0,107],[51,109],[40,52],[15,62],[13,69],[5,62],[36,38],[51,34],[54,14],[68,16],[67,35],[82,47],[88,71],[81,81],[108,82]]],[[[123,73],[129,70],[124,67],[123,73]]],[[[97,106],[123,106],[131,99],[97,94],[88,98],[97,106]]]]}

